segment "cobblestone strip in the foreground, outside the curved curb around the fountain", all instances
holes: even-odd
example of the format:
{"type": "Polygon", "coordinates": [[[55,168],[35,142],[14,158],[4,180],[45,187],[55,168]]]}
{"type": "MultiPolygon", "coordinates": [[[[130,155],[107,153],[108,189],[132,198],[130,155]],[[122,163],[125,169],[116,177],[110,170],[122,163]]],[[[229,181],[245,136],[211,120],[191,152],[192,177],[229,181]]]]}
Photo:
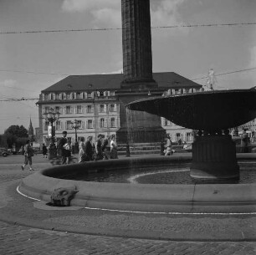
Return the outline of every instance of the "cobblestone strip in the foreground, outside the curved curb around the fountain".
{"type": "Polygon", "coordinates": [[[55,232],[0,222],[0,251],[7,254],[256,254],[255,242],[171,242],[55,232]]]}

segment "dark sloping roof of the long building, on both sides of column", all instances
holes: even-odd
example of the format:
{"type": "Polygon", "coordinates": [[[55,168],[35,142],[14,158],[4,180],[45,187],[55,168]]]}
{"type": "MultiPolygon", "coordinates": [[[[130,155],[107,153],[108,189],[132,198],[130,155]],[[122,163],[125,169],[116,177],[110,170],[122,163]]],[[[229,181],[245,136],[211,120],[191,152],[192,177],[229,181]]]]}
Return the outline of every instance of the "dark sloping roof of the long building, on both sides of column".
{"type": "MultiPolygon", "coordinates": [[[[202,85],[193,82],[190,79],[174,72],[153,73],[153,78],[160,88],[201,88],[202,85]]],[[[83,90],[117,90],[120,89],[120,83],[123,80],[123,74],[89,74],[89,75],[69,75],[59,82],[42,90],[45,92],[69,92],[83,90]]]]}

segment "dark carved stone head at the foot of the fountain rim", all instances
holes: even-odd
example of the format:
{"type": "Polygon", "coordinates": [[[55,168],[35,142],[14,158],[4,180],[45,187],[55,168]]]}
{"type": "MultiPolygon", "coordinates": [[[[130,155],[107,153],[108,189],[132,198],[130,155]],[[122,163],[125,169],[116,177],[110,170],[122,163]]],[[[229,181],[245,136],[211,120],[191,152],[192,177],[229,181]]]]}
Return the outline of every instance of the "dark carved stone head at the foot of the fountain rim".
{"type": "Polygon", "coordinates": [[[68,187],[59,187],[51,194],[51,203],[54,207],[70,207],[70,201],[78,190],[68,187]]]}

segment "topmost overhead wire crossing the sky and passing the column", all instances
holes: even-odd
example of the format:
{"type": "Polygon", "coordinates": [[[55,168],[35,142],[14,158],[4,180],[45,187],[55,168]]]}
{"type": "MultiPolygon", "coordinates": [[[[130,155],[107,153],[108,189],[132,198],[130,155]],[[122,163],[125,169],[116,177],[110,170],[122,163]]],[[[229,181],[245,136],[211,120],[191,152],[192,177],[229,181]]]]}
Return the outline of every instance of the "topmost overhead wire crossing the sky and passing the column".
{"type": "MultiPolygon", "coordinates": [[[[256,25],[252,23],[212,23],[212,24],[187,24],[187,25],[170,25],[156,26],[151,29],[168,29],[168,28],[202,28],[202,27],[234,27],[256,25]]],[[[70,32],[97,32],[110,30],[123,30],[124,28],[78,28],[78,29],[51,29],[51,30],[31,30],[31,31],[0,31],[0,34],[22,34],[22,33],[70,33],[70,32]]]]}

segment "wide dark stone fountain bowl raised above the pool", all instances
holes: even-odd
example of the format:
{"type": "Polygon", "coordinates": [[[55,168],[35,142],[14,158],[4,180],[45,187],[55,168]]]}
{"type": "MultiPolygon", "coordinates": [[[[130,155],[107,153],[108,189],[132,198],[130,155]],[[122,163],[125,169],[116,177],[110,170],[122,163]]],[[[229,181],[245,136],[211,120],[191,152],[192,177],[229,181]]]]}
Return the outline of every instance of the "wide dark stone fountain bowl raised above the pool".
{"type": "Polygon", "coordinates": [[[226,130],[256,118],[256,90],[233,89],[140,99],[126,105],[192,130],[226,130]]]}

